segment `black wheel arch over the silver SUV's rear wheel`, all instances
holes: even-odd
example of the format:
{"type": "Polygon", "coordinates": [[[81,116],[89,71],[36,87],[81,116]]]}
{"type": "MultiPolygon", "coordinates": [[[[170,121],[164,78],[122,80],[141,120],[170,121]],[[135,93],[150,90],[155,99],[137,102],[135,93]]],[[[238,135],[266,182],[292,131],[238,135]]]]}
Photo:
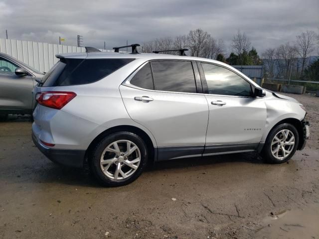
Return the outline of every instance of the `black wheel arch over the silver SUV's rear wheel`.
{"type": "Polygon", "coordinates": [[[121,132],[121,131],[128,131],[128,132],[132,132],[132,133],[135,133],[135,134],[139,135],[144,140],[144,142],[147,145],[148,152],[149,152],[149,155],[150,155],[149,163],[153,163],[153,162],[156,161],[156,158],[157,158],[157,147],[156,147],[156,145],[154,145],[151,137],[143,129],[141,129],[141,128],[137,127],[137,126],[133,126],[133,125],[117,125],[117,126],[110,127],[108,129],[106,129],[105,131],[101,132],[99,135],[97,135],[92,140],[92,142],[88,146],[88,148],[87,148],[87,150],[85,152],[85,161],[87,161],[89,159],[89,155],[90,155],[91,151],[93,150],[94,146],[102,138],[106,137],[110,133],[121,132]]]}

